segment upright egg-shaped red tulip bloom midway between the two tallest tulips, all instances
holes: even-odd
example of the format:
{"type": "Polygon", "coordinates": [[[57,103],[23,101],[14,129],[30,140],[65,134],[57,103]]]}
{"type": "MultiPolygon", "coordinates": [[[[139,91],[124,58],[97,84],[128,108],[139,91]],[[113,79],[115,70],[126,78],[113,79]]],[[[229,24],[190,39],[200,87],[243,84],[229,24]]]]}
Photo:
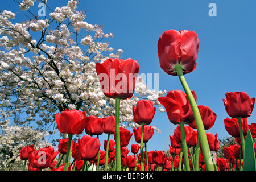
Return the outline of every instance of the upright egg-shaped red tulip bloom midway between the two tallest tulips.
{"type": "Polygon", "coordinates": [[[152,101],[139,100],[136,107],[133,106],[134,122],[141,125],[150,125],[155,115],[156,108],[152,101]]]}

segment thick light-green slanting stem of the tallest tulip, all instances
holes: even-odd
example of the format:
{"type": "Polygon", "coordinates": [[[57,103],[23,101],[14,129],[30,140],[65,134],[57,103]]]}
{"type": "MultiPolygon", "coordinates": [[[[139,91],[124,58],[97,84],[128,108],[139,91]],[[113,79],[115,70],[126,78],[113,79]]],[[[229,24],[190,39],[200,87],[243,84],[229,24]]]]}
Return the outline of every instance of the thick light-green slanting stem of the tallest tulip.
{"type": "Polygon", "coordinates": [[[204,160],[205,160],[205,168],[207,169],[207,171],[214,171],[214,167],[212,165],[212,156],[210,154],[210,148],[209,148],[207,136],[205,134],[203,121],[202,121],[199,109],[197,107],[195,98],[193,97],[193,94],[188,87],[187,81],[185,80],[181,65],[176,65],[175,70],[177,72],[177,75],[180,78],[181,85],[183,86],[183,89],[185,90],[185,93],[187,94],[188,101],[191,105],[191,108],[192,108],[192,111],[193,111],[193,114],[195,117],[197,132],[199,133],[202,152],[203,152],[204,160]]]}

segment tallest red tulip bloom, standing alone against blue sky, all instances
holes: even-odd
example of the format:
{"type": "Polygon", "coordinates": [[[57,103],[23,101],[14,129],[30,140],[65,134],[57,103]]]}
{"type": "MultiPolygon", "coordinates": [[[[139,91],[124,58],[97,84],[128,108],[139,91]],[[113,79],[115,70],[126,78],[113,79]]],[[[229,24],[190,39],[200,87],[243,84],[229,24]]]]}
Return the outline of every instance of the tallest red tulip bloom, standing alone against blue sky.
{"type": "Polygon", "coordinates": [[[169,75],[177,76],[176,65],[181,65],[183,75],[196,68],[199,39],[194,31],[167,30],[158,40],[160,67],[169,75]]]}

